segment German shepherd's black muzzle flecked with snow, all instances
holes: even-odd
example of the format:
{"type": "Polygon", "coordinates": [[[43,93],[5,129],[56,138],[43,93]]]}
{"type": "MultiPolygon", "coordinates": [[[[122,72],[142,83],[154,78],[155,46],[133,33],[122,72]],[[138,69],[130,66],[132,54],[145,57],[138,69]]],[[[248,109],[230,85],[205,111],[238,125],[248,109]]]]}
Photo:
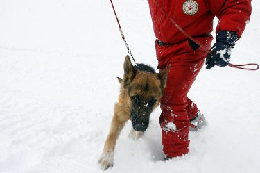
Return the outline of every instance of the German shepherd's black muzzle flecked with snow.
{"type": "Polygon", "coordinates": [[[131,113],[132,128],[135,131],[144,132],[149,126],[149,115],[131,113]]]}

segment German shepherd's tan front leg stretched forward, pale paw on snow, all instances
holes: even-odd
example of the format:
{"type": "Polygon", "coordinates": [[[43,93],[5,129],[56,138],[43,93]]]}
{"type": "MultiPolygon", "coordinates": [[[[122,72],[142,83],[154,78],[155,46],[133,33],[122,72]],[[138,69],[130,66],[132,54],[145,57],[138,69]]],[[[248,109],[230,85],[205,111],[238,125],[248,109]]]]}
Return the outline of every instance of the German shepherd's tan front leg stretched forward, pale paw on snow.
{"type": "Polygon", "coordinates": [[[103,154],[101,155],[98,161],[98,163],[101,164],[103,170],[107,170],[107,168],[113,167],[114,148],[116,146],[116,139],[119,137],[119,134],[121,133],[121,130],[123,129],[123,126],[125,125],[125,122],[128,119],[128,116],[124,116],[121,113],[115,113],[112,118],[110,132],[107,136],[107,140],[105,140],[103,154]]]}

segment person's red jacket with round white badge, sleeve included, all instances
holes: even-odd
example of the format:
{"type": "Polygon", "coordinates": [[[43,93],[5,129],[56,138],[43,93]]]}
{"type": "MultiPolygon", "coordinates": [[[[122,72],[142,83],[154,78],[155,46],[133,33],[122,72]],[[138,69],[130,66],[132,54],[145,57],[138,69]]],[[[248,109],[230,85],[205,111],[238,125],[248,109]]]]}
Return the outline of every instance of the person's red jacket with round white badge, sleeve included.
{"type": "MultiPolygon", "coordinates": [[[[240,38],[246,22],[250,20],[252,10],[251,0],[157,0],[157,2],[193,38],[211,33],[215,16],[219,19],[216,32],[235,31],[240,38]]],[[[149,0],[149,6],[155,36],[160,41],[175,44],[187,40],[156,6],[155,0],[149,0]]]]}

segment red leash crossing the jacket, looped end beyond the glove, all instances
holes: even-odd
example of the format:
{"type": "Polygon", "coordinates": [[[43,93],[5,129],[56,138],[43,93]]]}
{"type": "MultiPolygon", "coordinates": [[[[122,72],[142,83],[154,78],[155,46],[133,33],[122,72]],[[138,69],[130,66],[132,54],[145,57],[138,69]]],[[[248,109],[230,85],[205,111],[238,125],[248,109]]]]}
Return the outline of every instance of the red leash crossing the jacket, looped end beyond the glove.
{"type": "MultiPolygon", "coordinates": [[[[207,51],[208,53],[210,53],[212,55],[212,51],[210,51],[209,49],[207,49],[206,47],[204,47],[203,45],[200,44],[200,42],[198,42],[198,40],[194,39],[191,37],[191,35],[189,35],[187,32],[185,32],[176,22],[175,20],[173,20],[166,12],[165,10],[162,8],[162,6],[158,3],[157,0],[153,0],[156,4],[156,6],[162,11],[162,13],[164,13],[164,15],[170,20],[171,23],[173,23],[175,25],[175,27],[177,29],[179,29],[187,38],[189,38],[190,40],[192,40],[193,42],[195,42],[196,44],[198,44],[200,47],[202,47],[202,49],[205,49],[205,51],[207,51]]],[[[229,67],[234,67],[237,69],[246,69],[246,70],[257,70],[259,69],[259,65],[257,63],[249,63],[249,64],[243,64],[243,65],[234,65],[229,63],[228,64],[229,67]],[[257,66],[255,68],[245,68],[245,66],[248,65],[254,65],[257,66]]]]}

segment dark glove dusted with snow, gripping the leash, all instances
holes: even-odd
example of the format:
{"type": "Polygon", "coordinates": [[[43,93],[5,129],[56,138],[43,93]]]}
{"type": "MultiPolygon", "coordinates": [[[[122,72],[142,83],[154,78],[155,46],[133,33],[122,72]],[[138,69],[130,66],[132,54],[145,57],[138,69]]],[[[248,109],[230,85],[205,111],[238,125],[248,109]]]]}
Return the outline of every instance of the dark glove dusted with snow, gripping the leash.
{"type": "Polygon", "coordinates": [[[227,66],[230,61],[231,49],[234,48],[238,39],[235,32],[218,31],[216,43],[211,47],[212,55],[207,54],[206,69],[211,69],[215,65],[220,67],[227,66]]]}

